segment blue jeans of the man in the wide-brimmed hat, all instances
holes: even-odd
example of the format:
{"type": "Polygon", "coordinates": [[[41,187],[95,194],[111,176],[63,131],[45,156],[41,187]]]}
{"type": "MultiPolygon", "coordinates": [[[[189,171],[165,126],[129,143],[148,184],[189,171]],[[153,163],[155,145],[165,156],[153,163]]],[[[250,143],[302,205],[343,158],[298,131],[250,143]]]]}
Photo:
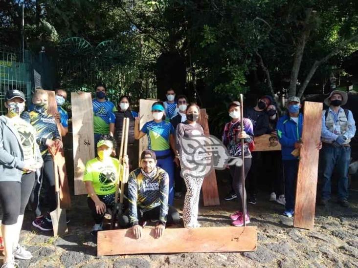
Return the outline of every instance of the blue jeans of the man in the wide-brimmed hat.
{"type": "Polygon", "coordinates": [[[322,199],[331,197],[331,176],[334,168],[338,173],[338,200],[348,199],[348,168],[351,160],[351,147],[337,147],[324,144],[322,147],[322,199]]]}

